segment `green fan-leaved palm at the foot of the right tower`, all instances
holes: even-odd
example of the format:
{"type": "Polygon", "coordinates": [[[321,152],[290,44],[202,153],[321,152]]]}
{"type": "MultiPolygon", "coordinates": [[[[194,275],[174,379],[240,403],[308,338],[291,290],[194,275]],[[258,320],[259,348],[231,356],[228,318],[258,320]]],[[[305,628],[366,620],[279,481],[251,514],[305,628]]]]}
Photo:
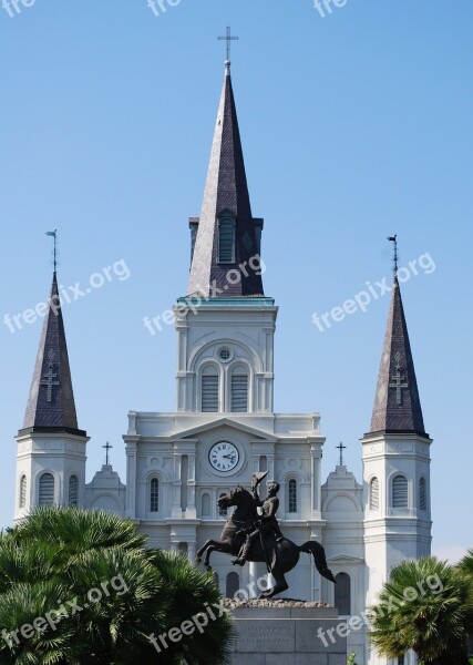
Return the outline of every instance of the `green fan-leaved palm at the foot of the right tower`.
{"type": "Polygon", "coordinates": [[[424,665],[467,665],[467,586],[434,556],[404,561],[391,571],[372,608],[371,641],[389,658],[412,649],[424,665]]]}

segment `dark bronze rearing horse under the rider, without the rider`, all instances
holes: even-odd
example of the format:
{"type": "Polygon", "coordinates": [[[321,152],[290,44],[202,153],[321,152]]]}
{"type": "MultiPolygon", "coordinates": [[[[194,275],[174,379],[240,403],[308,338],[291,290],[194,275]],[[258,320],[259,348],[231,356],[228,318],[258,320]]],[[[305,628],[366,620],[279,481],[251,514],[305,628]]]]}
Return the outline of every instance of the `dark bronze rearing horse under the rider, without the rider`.
{"type": "MultiPolygon", "coordinates": [[[[222,552],[237,556],[245,542],[245,531],[254,528],[255,521],[259,519],[251,494],[241,485],[232,490],[229,494],[220,497],[217,503],[219,508],[235,505],[236,509],[233,515],[225,522],[220,540],[208,540],[196,554],[196,561],[200,563],[205,552],[204,565],[208,571],[212,571],[209,563],[212,552],[222,552]]],[[[276,585],[263,592],[259,597],[270,598],[288,589],[285,573],[288,573],[297,565],[300,552],[312,554],[319,573],[335,583],[335,577],[327,567],[326,554],[320,543],[307,541],[304,545],[299,546],[287,538],[276,542],[273,534],[263,535],[263,539],[266,555],[260,540],[256,540],[249,553],[248,561],[264,561],[269,563],[276,585]]]]}

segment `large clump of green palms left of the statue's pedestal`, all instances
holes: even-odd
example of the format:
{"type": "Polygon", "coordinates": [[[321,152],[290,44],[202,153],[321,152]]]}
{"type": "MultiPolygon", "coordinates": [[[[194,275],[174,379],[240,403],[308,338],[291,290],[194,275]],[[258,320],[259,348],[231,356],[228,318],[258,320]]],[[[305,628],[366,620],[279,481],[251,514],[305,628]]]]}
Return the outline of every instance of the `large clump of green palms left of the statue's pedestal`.
{"type": "Polygon", "coordinates": [[[166,648],[150,640],[220,597],[209,573],[145,541],[130,520],[75,508],[40,509],[2,534],[0,664],[226,663],[226,614],[166,648]]]}

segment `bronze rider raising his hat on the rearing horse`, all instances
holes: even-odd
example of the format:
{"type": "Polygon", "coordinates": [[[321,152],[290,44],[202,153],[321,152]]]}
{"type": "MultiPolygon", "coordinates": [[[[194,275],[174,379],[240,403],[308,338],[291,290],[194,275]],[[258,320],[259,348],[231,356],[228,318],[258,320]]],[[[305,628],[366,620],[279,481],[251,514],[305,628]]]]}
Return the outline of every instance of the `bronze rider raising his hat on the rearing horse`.
{"type": "MultiPolygon", "coordinates": [[[[253,548],[253,543],[257,538],[261,540],[261,546],[264,549],[265,536],[274,533],[276,536],[276,542],[280,542],[284,536],[280,532],[278,521],[276,519],[276,512],[279,508],[279,499],[277,498],[277,493],[279,492],[279,483],[271,482],[268,485],[268,495],[265,501],[259,499],[258,494],[258,485],[261,480],[265,478],[265,474],[254,473],[253,481],[253,499],[255,505],[257,508],[261,508],[261,518],[256,520],[253,524],[253,530],[246,531],[246,541],[238,554],[238,557],[233,561],[233,564],[245,565],[246,560],[249,556],[250,550],[253,548]]],[[[266,552],[265,552],[266,555],[266,552]]]]}

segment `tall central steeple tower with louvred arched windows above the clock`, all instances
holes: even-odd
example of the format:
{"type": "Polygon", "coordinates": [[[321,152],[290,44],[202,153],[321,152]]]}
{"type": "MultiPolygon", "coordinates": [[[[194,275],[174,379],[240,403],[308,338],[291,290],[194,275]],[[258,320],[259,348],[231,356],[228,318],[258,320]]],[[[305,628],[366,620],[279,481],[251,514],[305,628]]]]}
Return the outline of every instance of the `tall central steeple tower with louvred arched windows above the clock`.
{"type": "Polygon", "coordinates": [[[271,413],[277,307],[263,290],[263,219],[253,217],[226,62],[187,296],[175,307],[178,412],[271,413]]]}

